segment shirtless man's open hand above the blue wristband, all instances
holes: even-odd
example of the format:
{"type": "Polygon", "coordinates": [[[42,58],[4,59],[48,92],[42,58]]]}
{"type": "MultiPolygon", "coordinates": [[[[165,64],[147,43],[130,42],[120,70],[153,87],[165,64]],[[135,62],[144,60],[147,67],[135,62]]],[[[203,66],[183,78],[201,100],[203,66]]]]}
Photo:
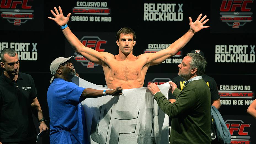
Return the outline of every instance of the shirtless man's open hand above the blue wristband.
{"type": "Polygon", "coordinates": [[[51,20],[54,20],[59,26],[66,25],[68,23],[68,20],[69,20],[69,17],[71,15],[71,13],[69,13],[67,15],[67,17],[64,17],[60,7],[59,7],[60,13],[58,12],[56,7],[54,7],[54,10],[55,10],[56,14],[55,14],[55,12],[53,10],[51,10],[51,12],[52,12],[52,15],[55,18],[52,18],[52,17],[48,17],[48,18],[51,19],[51,20]]]}

